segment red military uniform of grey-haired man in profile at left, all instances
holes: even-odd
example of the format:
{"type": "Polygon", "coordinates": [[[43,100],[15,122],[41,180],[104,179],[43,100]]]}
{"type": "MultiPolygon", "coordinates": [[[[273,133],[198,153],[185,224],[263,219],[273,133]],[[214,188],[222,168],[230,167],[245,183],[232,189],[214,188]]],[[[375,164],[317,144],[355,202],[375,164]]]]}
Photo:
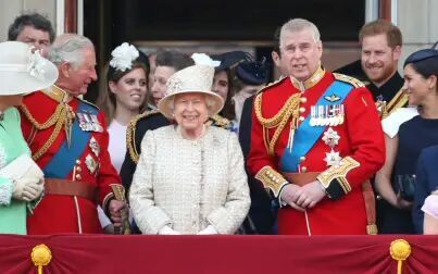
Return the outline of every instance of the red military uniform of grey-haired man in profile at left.
{"type": "Polygon", "coordinates": [[[97,202],[107,209],[110,184],[121,184],[108,153],[103,112],[52,86],[26,96],[21,115],[23,135],[46,177],[28,234],[102,233],[97,202]]]}

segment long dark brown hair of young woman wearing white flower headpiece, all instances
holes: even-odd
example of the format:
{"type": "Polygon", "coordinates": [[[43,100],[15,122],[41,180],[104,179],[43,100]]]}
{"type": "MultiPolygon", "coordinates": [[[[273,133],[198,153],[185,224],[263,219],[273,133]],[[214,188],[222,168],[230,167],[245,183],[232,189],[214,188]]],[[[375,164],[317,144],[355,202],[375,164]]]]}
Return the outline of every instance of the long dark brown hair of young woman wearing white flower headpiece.
{"type": "MultiPolygon", "coordinates": [[[[104,71],[103,71],[103,77],[100,77],[100,83],[99,83],[100,88],[99,88],[99,95],[98,95],[96,104],[105,114],[108,123],[111,123],[111,121],[114,119],[115,107],[116,107],[115,95],[110,91],[110,87],[109,87],[110,82],[117,83],[123,76],[130,73],[132,71],[134,71],[136,68],[142,68],[145,71],[145,76],[146,76],[146,86],[148,87],[149,73],[150,73],[149,59],[140,50],[138,50],[138,53],[139,53],[139,57],[133,62],[130,70],[126,70],[126,71],[122,72],[122,71],[115,70],[110,64],[107,64],[104,67],[104,71]]],[[[148,103],[147,99],[145,99],[145,102],[141,104],[141,107],[139,109],[139,113],[142,113],[146,110],[147,103],[148,103]]]]}

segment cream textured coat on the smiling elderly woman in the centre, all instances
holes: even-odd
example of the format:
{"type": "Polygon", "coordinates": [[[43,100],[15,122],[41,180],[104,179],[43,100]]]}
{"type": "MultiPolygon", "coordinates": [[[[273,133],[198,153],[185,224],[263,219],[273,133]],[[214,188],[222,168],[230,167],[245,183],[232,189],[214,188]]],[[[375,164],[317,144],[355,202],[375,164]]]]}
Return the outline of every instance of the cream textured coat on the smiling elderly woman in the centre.
{"type": "Polygon", "coordinates": [[[199,140],[187,140],[174,125],[148,130],[129,202],[143,234],[158,234],[165,225],[180,234],[209,225],[234,234],[250,207],[236,134],[211,126],[199,140]]]}

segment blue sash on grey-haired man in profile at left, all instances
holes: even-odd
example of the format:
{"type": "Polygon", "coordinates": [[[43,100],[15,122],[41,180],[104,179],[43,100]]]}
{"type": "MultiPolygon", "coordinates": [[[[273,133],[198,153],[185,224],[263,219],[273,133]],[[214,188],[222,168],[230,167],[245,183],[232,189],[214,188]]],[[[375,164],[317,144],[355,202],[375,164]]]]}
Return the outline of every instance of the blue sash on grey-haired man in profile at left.
{"type": "MultiPolygon", "coordinates": [[[[98,110],[87,103],[80,102],[77,112],[98,115],[98,110]]],[[[60,150],[50,160],[49,164],[43,169],[45,176],[51,178],[65,178],[76,164],[76,160],[80,158],[87,148],[91,133],[85,132],[79,127],[76,117],[72,125],[72,142],[68,148],[67,139],[61,145],[60,150]]]]}

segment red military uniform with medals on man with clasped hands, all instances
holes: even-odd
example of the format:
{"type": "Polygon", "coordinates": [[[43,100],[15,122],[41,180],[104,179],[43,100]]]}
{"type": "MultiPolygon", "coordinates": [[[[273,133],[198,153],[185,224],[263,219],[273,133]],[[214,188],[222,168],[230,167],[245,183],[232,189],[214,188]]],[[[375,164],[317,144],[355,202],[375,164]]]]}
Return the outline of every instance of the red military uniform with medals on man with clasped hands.
{"type": "MultiPolygon", "coordinates": [[[[275,198],[289,183],[304,185],[316,178],[327,194],[305,213],[280,208],[279,234],[366,234],[366,214],[375,212],[366,209],[362,188],[384,164],[385,140],[373,98],[362,83],[322,68],[304,83],[283,78],[259,92],[252,123],[248,166],[275,198]],[[345,98],[336,89],[327,91],[335,82],[349,87],[345,98]],[[328,107],[316,105],[320,102],[328,107]],[[298,138],[308,119],[309,132],[298,138]],[[287,166],[289,155],[318,127],[321,134],[298,155],[297,166],[287,166]]],[[[367,198],[373,200],[370,194],[367,198]]]]}

